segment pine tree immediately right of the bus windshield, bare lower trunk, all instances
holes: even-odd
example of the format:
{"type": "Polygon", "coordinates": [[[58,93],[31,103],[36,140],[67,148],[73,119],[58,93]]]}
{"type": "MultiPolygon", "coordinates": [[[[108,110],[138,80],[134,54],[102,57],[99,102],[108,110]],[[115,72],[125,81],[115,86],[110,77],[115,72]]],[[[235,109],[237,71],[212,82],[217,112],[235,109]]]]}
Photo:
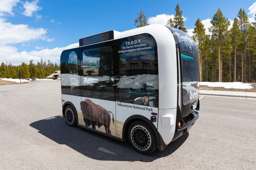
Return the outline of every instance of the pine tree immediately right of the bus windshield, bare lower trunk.
{"type": "Polygon", "coordinates": [[[203,48],[203,43],[206,39],[205,35],[205,28],[200,19],[195,23],[194,31],[193,31],[193,36],[192,38],[195,40],[197,47],[198,47],[198,55],[199,55],[199,70],[200,70],[200,81],[202,81],[202,48],[203,48]]]}

